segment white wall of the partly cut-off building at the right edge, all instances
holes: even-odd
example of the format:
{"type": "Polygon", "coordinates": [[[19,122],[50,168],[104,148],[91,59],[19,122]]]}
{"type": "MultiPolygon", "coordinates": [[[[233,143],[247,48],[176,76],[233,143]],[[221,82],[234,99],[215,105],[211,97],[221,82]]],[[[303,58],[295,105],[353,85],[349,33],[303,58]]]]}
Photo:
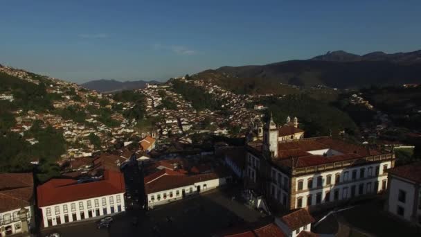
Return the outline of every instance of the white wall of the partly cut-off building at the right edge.
{"type": "Polygon", "coordinates": [[[415,198],[414,184],[410,181],[404,181],[404,179],[397,179],[393,176],[391,176],[390,182],[391,184],[388,194],[388,211],[397,215],[397,207],[403,207],[403,218],[405,218],[406,220],[411,220],[411,215],[413,212],[413,203],[415,198]],[[406,192],[405,202],[400,202],[398,200],[399,190],[406,192]]]}

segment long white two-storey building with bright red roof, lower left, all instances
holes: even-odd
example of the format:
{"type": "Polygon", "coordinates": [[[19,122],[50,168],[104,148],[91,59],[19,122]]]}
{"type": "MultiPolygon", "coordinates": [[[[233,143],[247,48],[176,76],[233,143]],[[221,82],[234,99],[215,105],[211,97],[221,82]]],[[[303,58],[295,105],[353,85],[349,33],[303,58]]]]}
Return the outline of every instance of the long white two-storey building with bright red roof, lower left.
{"type": "Polygon", "coordinates": [[[37,187],[44,227],[125,211],[125,183],[120,172],[105,170],[99,180],[51,179],[37,187]]]}

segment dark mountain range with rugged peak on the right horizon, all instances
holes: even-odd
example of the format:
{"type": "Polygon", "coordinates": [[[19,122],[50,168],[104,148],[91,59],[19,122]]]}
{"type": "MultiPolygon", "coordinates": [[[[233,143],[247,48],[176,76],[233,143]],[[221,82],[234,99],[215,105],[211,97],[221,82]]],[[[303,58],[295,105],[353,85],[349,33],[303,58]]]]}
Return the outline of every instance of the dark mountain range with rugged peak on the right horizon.
{"type": "Polygon", "coordinates": [[[226,89],[254,91],[256,94],[274,93],[278,91],[276,88],[280,87],[280,83],[341,89],[421,83],[421,51],[393,54],[373,52],[366,55],[333,51],[310,60],[220,67],[202,71],[192,78],[213,80],[226,89]]]}

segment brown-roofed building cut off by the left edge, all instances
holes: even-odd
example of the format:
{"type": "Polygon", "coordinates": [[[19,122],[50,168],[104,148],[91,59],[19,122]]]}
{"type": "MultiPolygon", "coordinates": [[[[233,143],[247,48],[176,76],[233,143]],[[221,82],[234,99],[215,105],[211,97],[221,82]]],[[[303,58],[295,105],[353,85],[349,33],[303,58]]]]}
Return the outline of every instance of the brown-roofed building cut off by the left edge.
{"type": "Polygon", "coordinates": [[[0,174],[0,236],[28,233],[33,224],[32,173],[0,174]]]}

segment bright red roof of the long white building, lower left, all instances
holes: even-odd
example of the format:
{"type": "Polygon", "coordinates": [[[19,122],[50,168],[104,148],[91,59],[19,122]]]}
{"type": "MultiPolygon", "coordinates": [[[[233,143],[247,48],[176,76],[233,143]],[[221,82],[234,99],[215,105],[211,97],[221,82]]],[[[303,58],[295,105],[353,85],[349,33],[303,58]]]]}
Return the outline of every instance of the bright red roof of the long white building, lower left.
{"type": "Polygon", "coordinates": [[[75,179],[51,179],[37,187],[38,206],[96,198],[125,192],[123,174],[105,170],[100,181],[78,184],[75,179]]]}

